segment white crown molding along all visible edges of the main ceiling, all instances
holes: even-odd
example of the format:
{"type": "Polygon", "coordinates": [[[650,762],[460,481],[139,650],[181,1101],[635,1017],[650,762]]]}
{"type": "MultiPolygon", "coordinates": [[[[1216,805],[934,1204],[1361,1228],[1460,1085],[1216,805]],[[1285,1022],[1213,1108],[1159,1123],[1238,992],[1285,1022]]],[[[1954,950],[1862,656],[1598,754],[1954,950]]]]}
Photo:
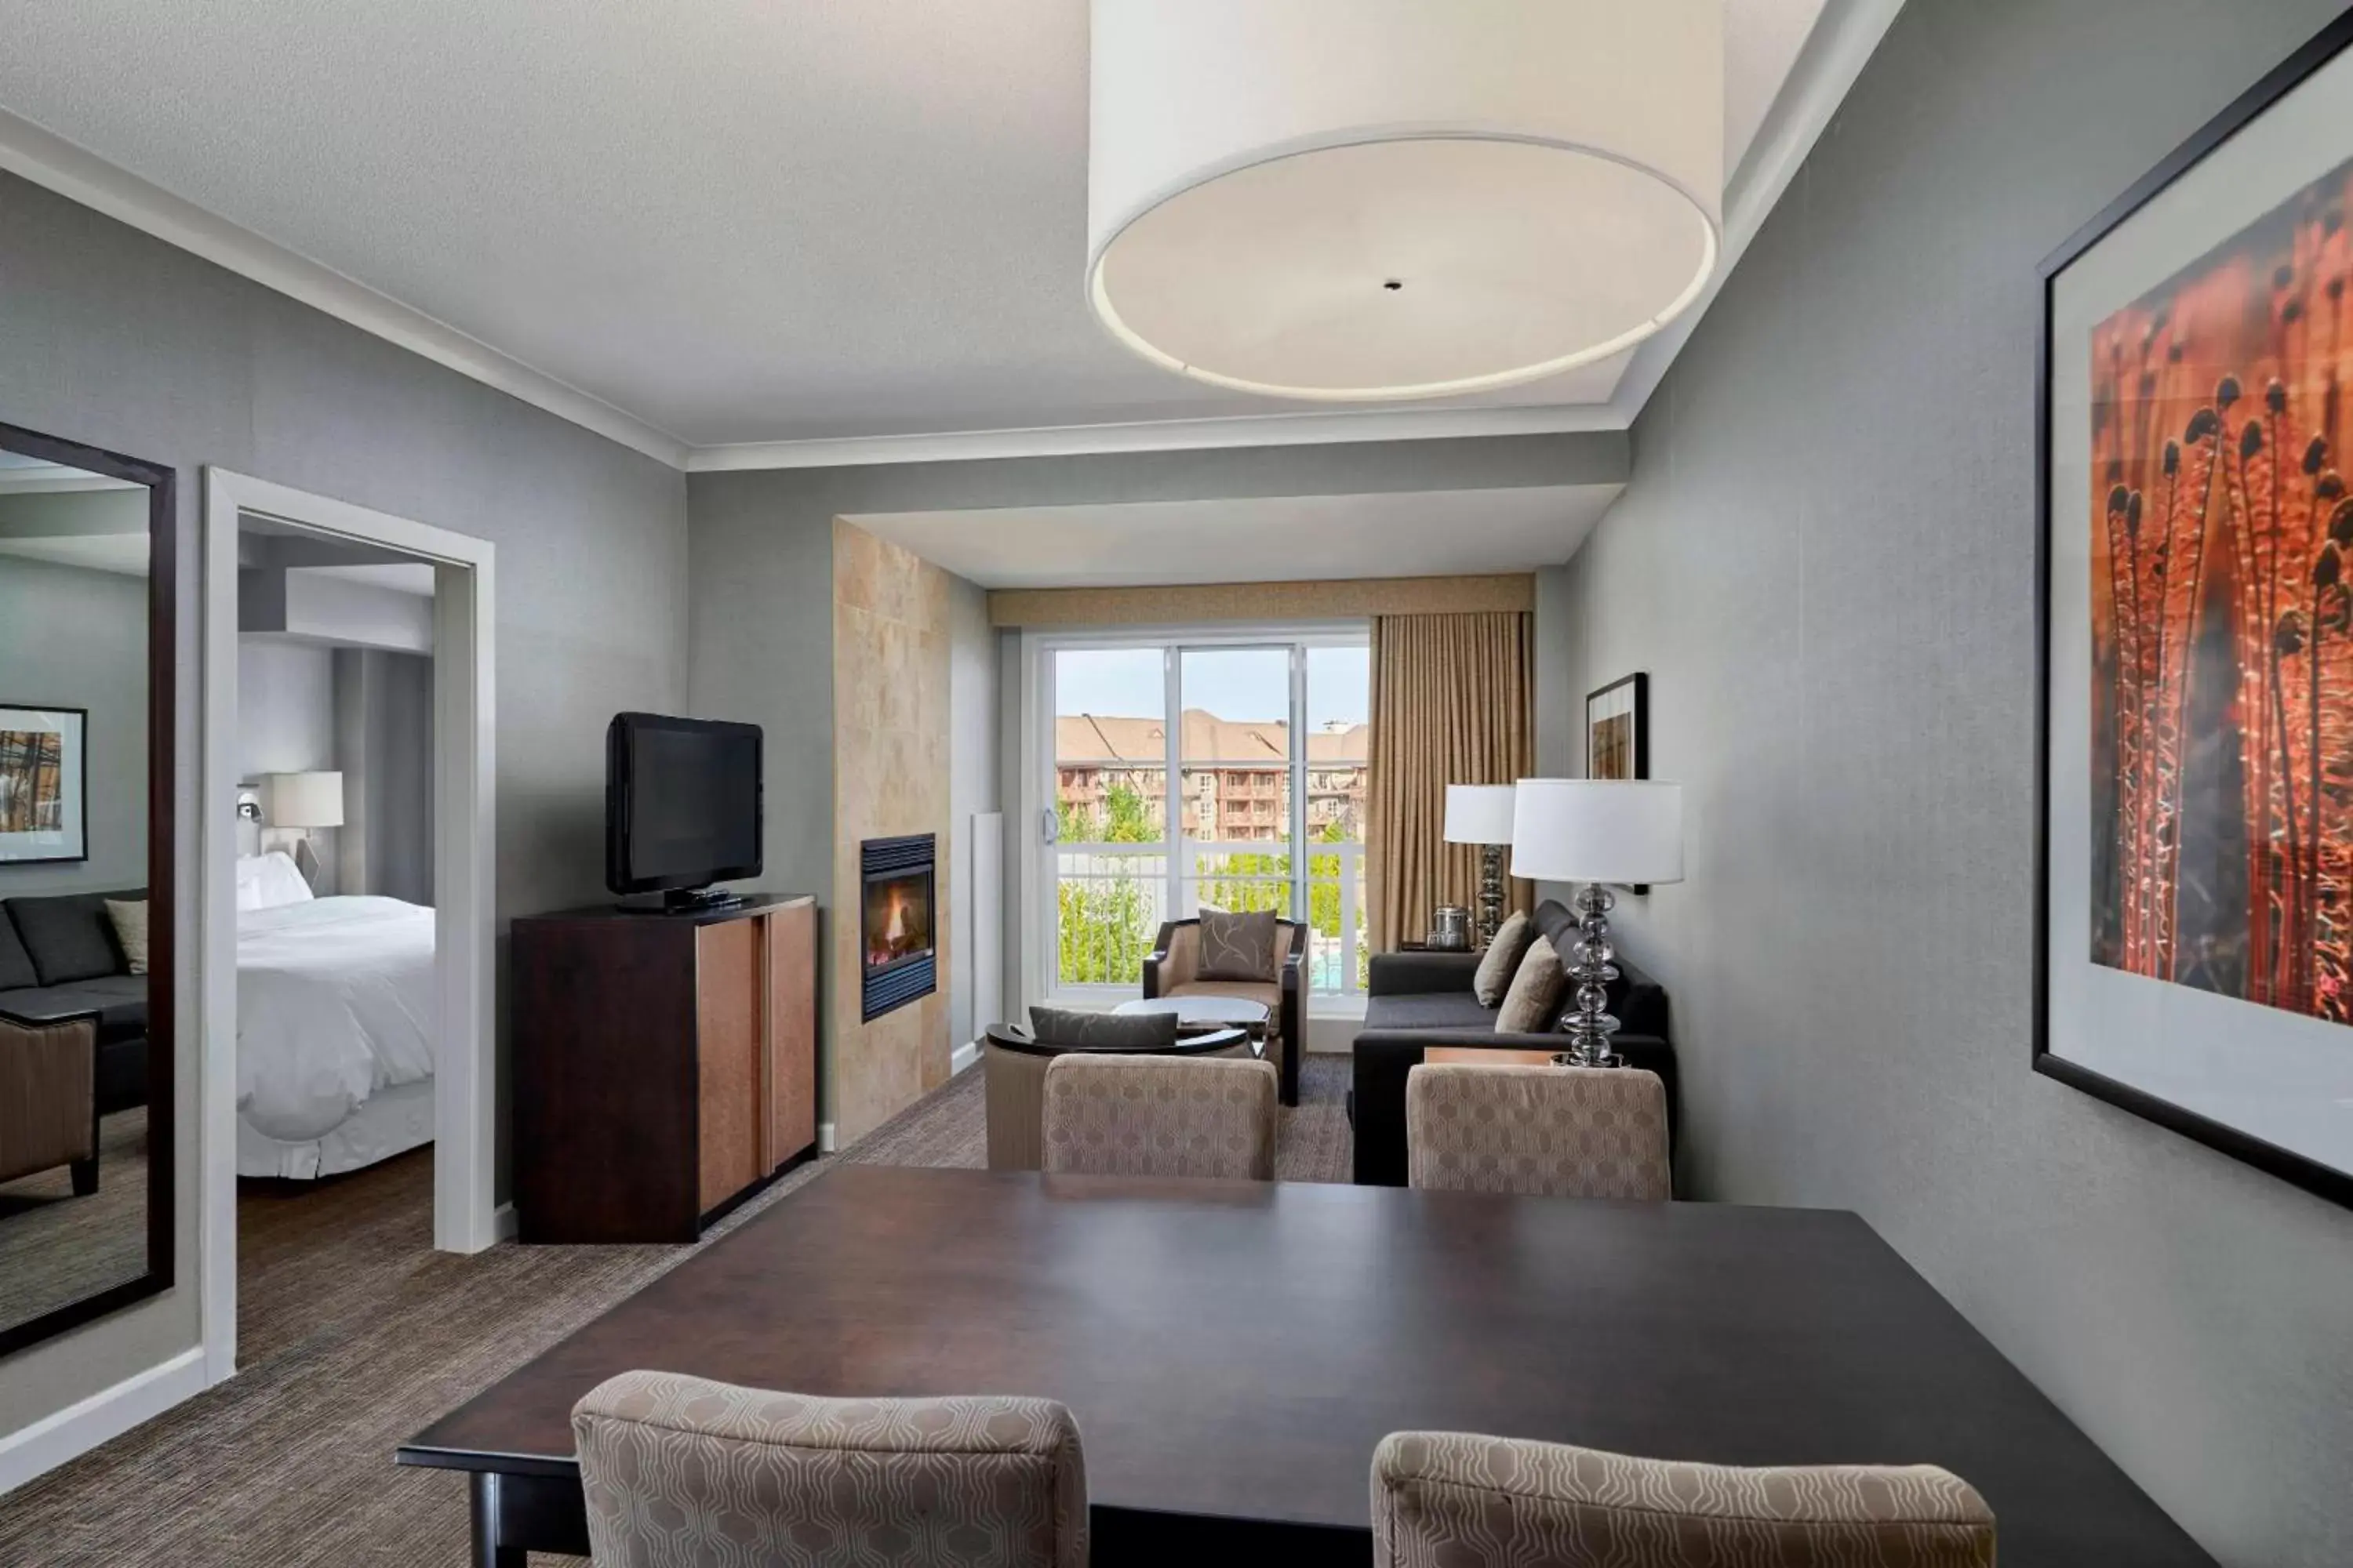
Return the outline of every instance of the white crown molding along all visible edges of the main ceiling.
{"type": "Polygon", "coordinates": [[[1682,315],[1635,350],[1609,402],[1588,404],[1351,409],[692,447],[635,414],[214,216],[7,110],[0,110],[0,169],[687,473],[1626,430],[1765,226],[1774,202],[1788,190],[1814,141],[1828,129],[1901,9],[1904,0],[1828,0],[1755,146],[1725,190],[1725,249],[1713,280],[1682,315]]]}

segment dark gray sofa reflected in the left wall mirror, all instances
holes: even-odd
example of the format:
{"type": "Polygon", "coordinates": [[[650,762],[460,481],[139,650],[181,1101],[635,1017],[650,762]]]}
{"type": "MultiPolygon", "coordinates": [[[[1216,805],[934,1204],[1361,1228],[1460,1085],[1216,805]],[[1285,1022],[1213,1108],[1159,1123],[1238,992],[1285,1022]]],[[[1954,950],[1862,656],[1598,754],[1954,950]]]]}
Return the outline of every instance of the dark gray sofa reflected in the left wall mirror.
{"type": "Polygon", "coordinates": [[[146,976],[129,973],[106,900],[146,889],[0,900],[0,1016],[26,1025],[94,1018],[99,1114],[146,1105],[146,976]]]}

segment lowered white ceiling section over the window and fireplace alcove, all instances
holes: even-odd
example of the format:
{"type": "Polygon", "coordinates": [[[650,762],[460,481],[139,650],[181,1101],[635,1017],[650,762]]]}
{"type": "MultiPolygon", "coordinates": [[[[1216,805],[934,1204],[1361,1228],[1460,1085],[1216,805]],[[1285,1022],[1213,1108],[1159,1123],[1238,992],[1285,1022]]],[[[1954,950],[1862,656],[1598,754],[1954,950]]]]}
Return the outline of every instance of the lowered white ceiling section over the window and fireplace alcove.
{"type": "Polygon", "coordinates": [[[1558,567],[1624,484],[866,512],[981,588],[1299,583],[1558,567]]]}

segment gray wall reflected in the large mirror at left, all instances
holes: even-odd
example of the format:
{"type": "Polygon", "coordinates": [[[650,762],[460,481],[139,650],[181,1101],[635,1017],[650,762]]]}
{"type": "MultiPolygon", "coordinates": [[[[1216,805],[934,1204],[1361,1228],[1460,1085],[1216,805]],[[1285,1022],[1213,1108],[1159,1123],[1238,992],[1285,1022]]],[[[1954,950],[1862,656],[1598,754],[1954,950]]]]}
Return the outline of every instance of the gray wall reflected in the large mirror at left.
{"type": "Polygon", "coordinates": [[[146,884],[146,597],[139,576],[0,555],[0,703],[89,710],[89,860],[0,865],[0,898],[146,884]]]}

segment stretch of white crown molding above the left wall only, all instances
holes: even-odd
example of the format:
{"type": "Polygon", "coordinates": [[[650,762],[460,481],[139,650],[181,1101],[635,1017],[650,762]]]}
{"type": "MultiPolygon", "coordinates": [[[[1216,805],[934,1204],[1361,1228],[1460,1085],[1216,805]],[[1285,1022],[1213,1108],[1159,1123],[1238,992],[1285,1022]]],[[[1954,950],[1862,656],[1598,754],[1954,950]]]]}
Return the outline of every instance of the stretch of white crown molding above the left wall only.
{"type": "Polygon", "coordinates": [[[313,310],[325,310],[360,331],[369,331],[386,343],[398,343],[508,397],[520,397],[536,409],[595,430],[649,458],[661,458],[671,468],[687,465],[687,444],[635,414],[624,414],[576,386],[532,369],[522,360],[504,355],[447,322],[433,320],[424,310],[402,306],[388,294],[376,294],[365,282],[209,214],[195,202],[186,202],[162,186],[144,181],[129,169],[120,169],[96,153],[5,108],[0,108],[0,169],[21,174],[35,186],[47,186],[82,207],[104,212],[240,277],[249,277],[266,289],[296,299],[313,310]]]}

